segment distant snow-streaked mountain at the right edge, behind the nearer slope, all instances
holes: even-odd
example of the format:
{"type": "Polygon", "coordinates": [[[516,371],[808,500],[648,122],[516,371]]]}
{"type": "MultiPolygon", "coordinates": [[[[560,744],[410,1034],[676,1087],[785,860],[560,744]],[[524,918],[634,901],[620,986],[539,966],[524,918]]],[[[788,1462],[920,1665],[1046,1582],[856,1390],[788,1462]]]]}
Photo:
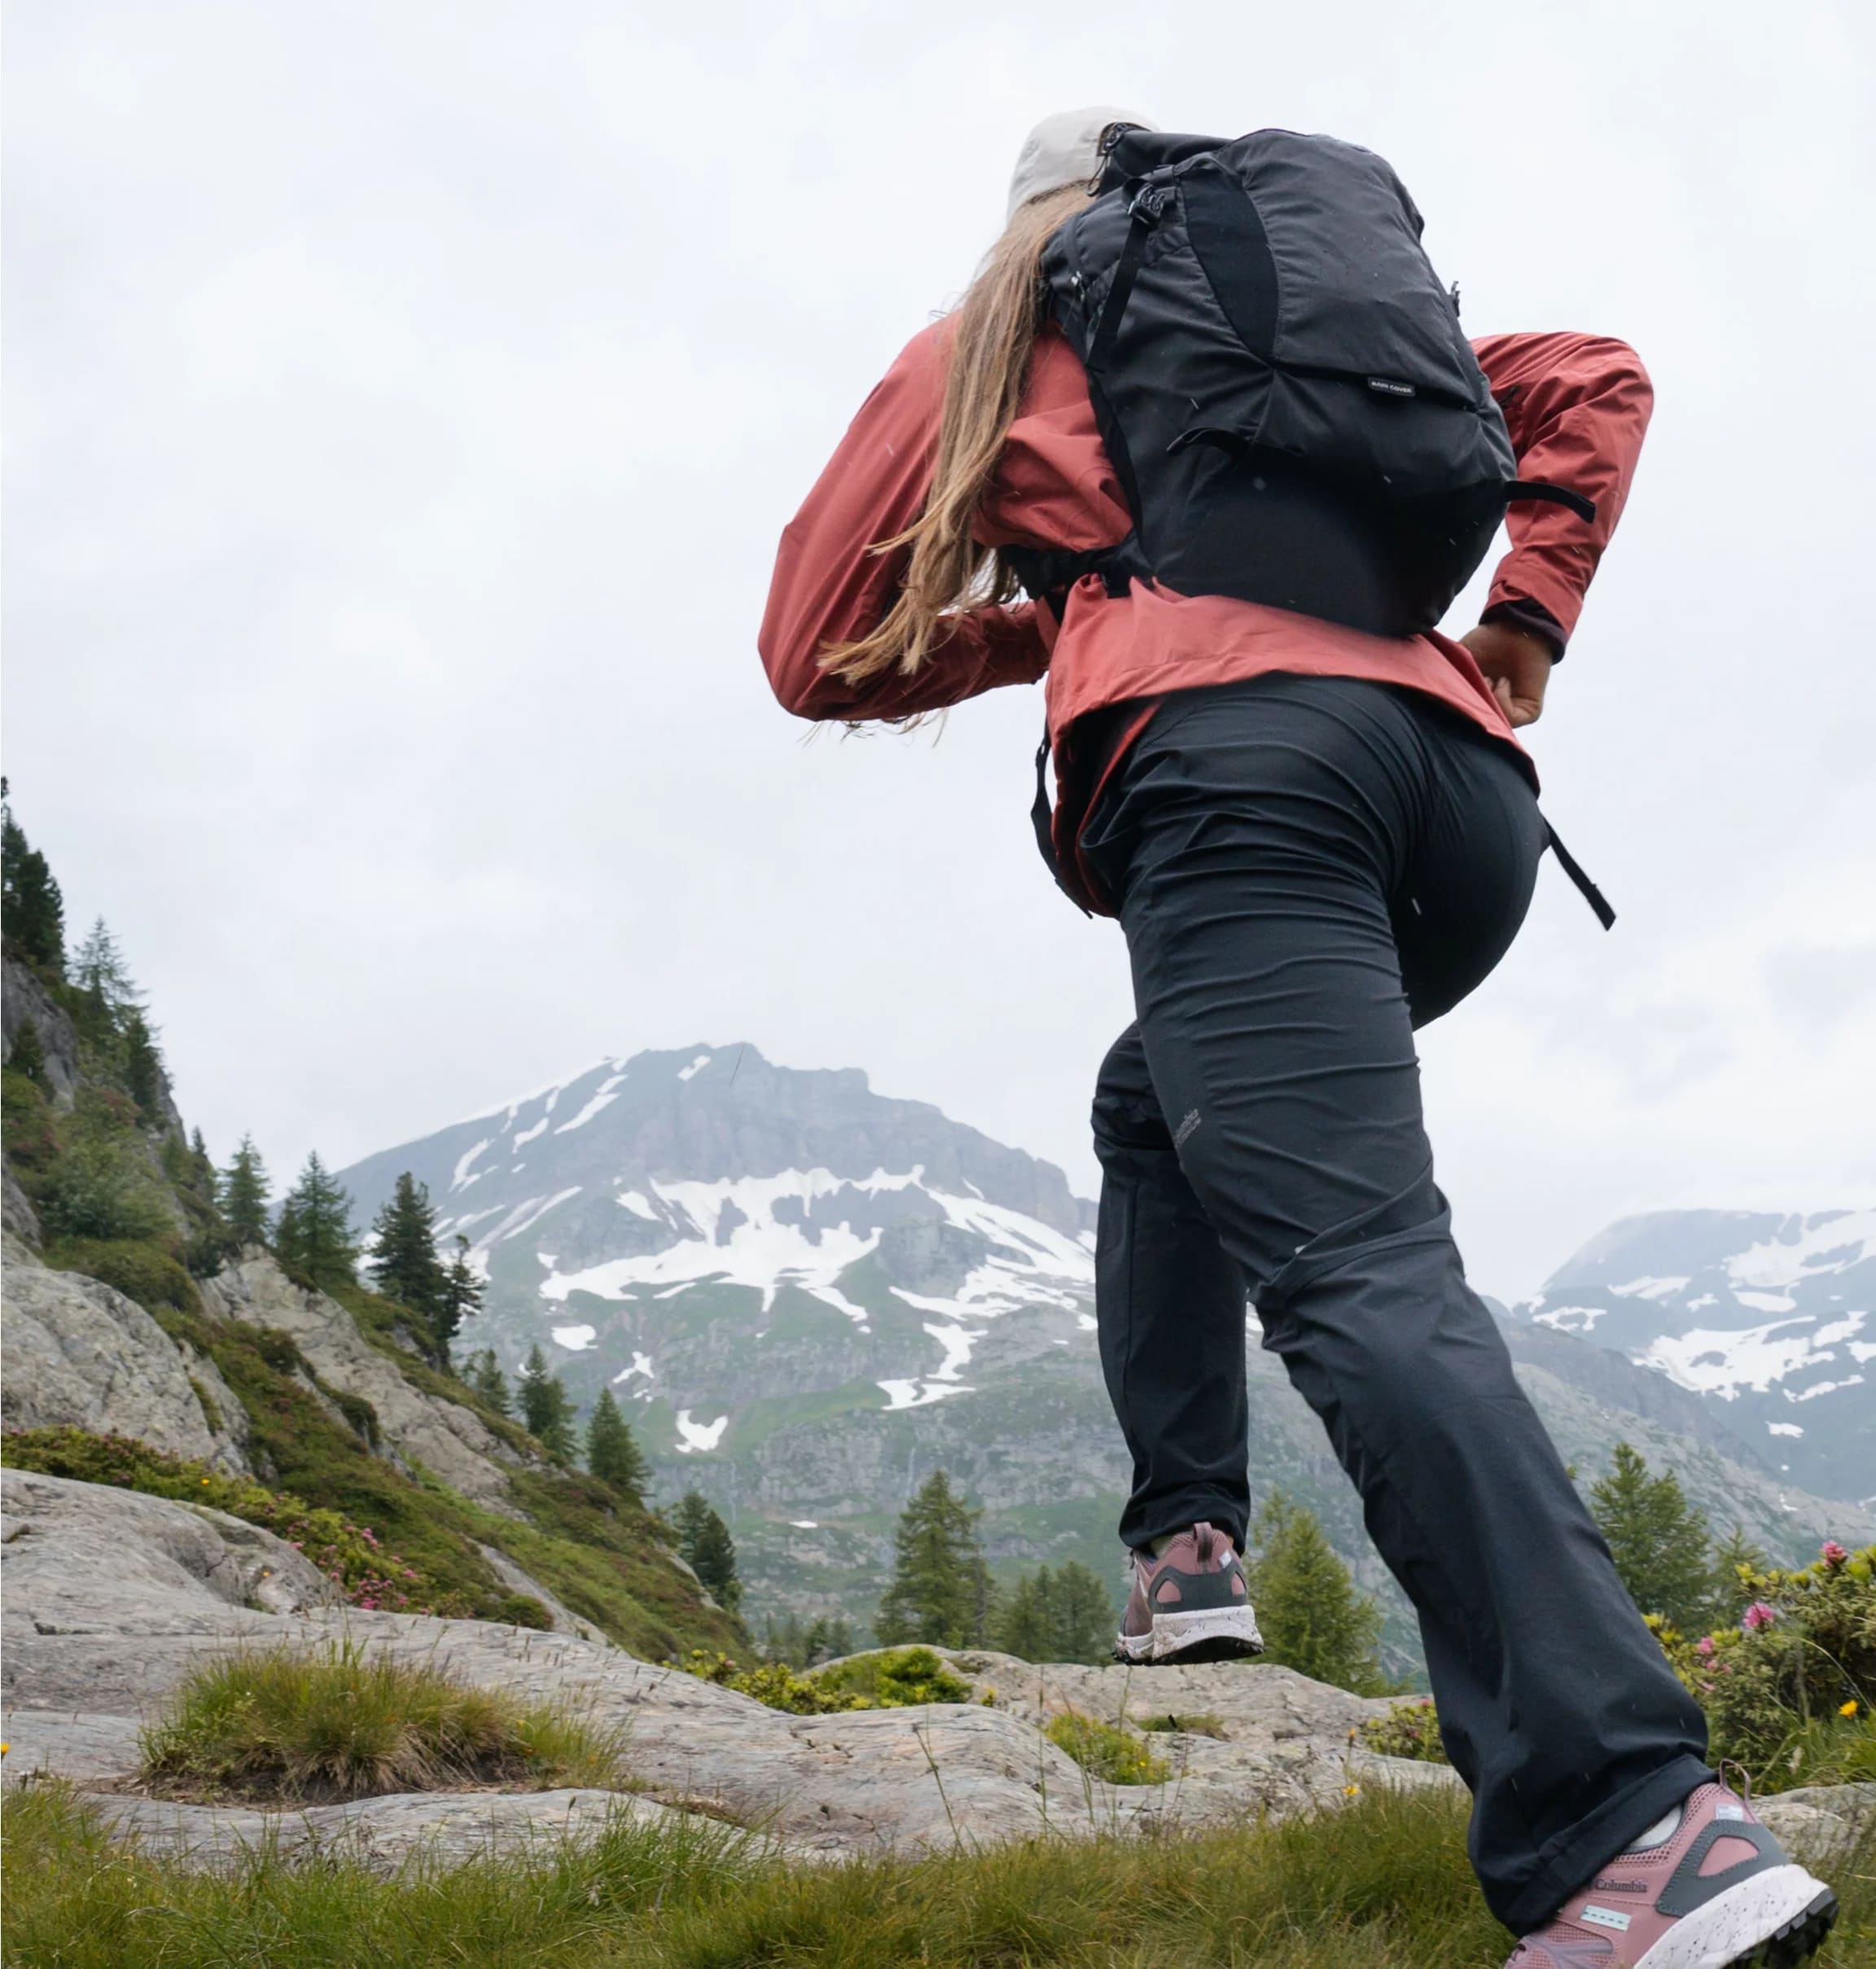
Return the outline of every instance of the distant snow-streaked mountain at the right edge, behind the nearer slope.
{"type": "Polygon", "coordinates": [[[1876,1211],[1628,1217],[1516,1317],[1722,1406],[1811,1491],[1876,1494],[1876,1211]]]}

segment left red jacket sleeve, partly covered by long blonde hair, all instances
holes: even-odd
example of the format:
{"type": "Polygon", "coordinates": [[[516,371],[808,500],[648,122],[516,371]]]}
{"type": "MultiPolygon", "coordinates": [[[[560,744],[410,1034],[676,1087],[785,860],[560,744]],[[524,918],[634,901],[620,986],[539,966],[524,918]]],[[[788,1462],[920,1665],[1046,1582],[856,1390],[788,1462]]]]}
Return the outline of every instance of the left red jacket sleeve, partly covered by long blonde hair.
{"type": "Polygon", "coordinates": [[[907,549],[870,547],[902,534],[923,510],[947,349],[943,321],[906,347],[782,534],[758,648],[776,697],[795,717],[913,717],[998,683],[1033,683],[1049,666],[1035,606],[1024,603],[949,616],[911,677],[888,671],[854,685],[821,667],[831,644],[878,628],[906,573],[907,549]]]}

